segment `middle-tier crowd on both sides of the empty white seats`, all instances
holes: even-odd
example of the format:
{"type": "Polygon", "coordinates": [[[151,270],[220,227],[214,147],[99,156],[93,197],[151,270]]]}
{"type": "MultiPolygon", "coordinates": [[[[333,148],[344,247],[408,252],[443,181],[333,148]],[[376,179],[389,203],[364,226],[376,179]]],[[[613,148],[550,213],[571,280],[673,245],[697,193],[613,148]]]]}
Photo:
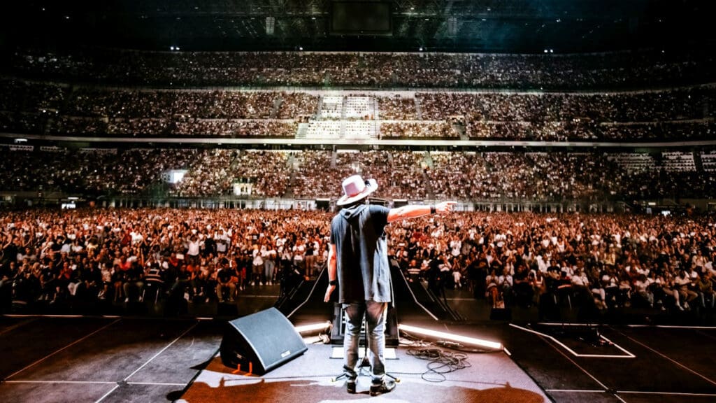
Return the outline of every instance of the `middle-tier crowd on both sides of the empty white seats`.
{"type": "MultiPolygon", "coordinates": [[[[0,80],[0,93],[2,130],[72,136],[291,138],[299,122],[319,118],[321,101],[320,93],[299,90],[72,87],[15,79],[0,80]]],[[[629,93],[377,94],[382,138],[463,133],[471,139],[673,141],[716,134],[710,85],[629,93]]]]}

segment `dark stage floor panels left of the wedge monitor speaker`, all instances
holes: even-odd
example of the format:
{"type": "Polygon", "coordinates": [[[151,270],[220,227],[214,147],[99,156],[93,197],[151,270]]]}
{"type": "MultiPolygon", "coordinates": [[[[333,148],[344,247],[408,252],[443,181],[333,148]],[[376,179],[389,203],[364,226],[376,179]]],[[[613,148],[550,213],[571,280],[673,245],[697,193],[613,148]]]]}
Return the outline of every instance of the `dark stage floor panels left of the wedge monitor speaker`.
{"type": "Polygon", "coordinates": [[[0,319],[0,402],[171,402],[221,343],[220,323],[0,319]]]}

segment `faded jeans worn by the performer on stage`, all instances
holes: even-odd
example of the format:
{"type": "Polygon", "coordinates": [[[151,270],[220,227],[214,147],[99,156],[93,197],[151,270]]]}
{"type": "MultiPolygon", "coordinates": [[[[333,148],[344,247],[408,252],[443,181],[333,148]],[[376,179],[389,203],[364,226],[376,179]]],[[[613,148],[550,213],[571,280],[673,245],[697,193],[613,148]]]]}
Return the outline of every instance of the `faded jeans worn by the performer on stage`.
{"type": "Polygon", "coordinates": [[[368,362],[372,368],[373,384],[380,384],[385,376],[385,313],[387,303],[366,301],[364,303],[344,303],[348,322],[343,340],[343,370],[347,379],[354,381],[356,364],[358,364],[358,348],[360,329],[363,316],[366,318],[366,336],[368,341],[368,362]]]}

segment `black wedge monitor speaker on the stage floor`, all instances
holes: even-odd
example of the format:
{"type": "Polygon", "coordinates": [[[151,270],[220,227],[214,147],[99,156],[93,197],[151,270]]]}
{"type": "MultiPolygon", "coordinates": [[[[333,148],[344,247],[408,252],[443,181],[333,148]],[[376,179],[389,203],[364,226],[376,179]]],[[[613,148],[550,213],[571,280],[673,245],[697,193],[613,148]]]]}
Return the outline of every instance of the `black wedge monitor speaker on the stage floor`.
{"type": "Polygon", "coordinates": [[[259,375],[306,350],[303,338],[276,308],[229,321],[219,349],[224,365],[259,375]]]}

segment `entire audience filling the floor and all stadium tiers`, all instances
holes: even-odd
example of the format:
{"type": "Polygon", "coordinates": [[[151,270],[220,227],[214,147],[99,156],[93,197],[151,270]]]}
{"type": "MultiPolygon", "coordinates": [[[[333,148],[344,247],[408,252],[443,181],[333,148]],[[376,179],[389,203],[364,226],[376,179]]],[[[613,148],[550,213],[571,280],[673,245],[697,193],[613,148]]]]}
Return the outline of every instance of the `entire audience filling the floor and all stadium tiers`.
{"type": "MultiPolygon", "coordinates": [[[[716,80],[712,52],[84,49],[16,52],[8,60],[0,67],[0,130],[9,133],[291,138],[321,105],[319,93],[297,87],[417,88],[408,95],[371,93],[377,119],[385,120],[377,125],[383,138],[680,141],[716,133],[716,89],[704,85],[716,80]]],[[[374,196],[384,199],[715,198],[712,166],[696,151],[677,154],[640,155],[647,162],[635,168],[609,151],[4,145],[0,189],[315,199],[338,196],[340,181],[360,173],[379,181],[374,196]],[[170,183],[172,171],[183,179],[170,183]]],[[[146,291],[155,298],[232,300],[246,287],[285,283],[289,273],[314,276],[326,257],[330,217],[296,210],[8,212],[0,216],[0,308],[13,299],[130,302],[146,291]]],[[[493,306],[566,298],[597,310],[714,308],[711,217],[465,212],[396,223],[389,232],[392,261],[436,293],[464,284],[493,306]]]]}

